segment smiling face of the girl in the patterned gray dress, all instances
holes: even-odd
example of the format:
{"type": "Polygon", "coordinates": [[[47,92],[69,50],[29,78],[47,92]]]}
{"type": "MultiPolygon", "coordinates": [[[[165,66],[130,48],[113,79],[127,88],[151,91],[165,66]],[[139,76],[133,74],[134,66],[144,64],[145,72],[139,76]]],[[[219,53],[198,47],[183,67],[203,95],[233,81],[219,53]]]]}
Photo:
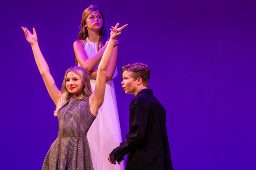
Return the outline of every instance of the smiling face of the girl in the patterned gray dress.
{"type": "Polygon", "coordinates": [[[80,77],[74,72],[68,72],[66,76],[66,88],[69,93],[74,95],[74,98],[81,98],[84,84],[80,77]]]}

